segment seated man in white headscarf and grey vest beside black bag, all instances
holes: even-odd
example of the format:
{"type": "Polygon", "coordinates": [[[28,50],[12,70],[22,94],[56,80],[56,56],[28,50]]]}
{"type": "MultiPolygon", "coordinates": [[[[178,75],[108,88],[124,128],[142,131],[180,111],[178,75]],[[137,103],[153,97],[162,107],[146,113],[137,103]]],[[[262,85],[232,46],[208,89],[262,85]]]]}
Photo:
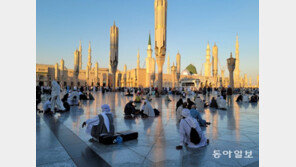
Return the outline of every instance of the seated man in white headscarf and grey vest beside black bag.
{"type": "MultiPolygon", "coordinates": [[[[103,104],[101,106],[101,109],[102,109],[102,113],[99,115],[101,115],[103,117],[104,126],[106,127],[107,131],[106,132],[102,131],[100,134],[97,134],[97,135],[99,136],[99,135],[103,135],[103,134],[114,134],[113,114],[112,114],[112,112],[110,112],[111,110],[110,110],[109,105],[103,104]]],[[[92,131],[93,126],[99,125],[99,123],[100,123],[99,115],[97,115],[94,118],[90,118],[90,119],[86,120],[82,124],[82,128],[84,126],[87,126],[85,132],[87,134],[89,134],[90,136],[92,136],[91,131],[92,131]]],[[[94,136],[92,136],[92,137],[94,137],[94,136]]],[[[94,139],[92,138],[90,141],[93,141],[93,140],[94,139]]]]}

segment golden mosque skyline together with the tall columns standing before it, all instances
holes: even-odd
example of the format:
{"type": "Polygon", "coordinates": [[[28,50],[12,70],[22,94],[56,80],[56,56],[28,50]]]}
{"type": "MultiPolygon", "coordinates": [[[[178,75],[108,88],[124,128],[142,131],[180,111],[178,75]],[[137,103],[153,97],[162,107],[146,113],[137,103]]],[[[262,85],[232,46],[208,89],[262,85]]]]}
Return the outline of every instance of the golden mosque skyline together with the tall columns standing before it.
{"type": "MultiPolygon", "coordinates": [[[[167,0],[155,0],[155,58],[153,55],[151,36],[149,34],[147,56],[145,58],[145,67],[140,66],[140,53],[137,53],[137,66],[130,68],[124,65],[122,71],[117,69],[118,58],[118,38],[119,30],[115,25],[110,28],[110,55],[108,68],[99,67],[99,63],[92,64],[91,43],[88,47],[88,61],[85,69],[82,67],[82,45],[79,42],[79,49],[74,51],[74,68],[68,69],[65,67],[63,59],[60,64],[36,64],[36,82],[43,82],[44,85],[50,85],[52,80],[59,81],[62,86],[109,86],[115,89],[116,87],[178,87],[180,81],[186,79],[199,79],[200,86],[212,87],[227,87],[229,85],[228,77],[225,77],[225,68],[220,67],[220,75],[218,71],[218,46],[216,43],[211,49],[208,42],[206,48],[206,61],[203,63],[204,74],[202,71],[192,74],[188,71],[181,73],[181,54],[177,53],[176,62],[170,66],[170,57],[167,56],[167,70],[163,72],[163,64],[166,55],[166,15],[167,15],[167,0]],[[212,62],[211,62],[212,60],[212,62]],[[175,66],[176,64],[176,66],[175,66]],[[156,65],[158,71],[156,71],[156,65]]],[[[259,76],[257,83],[252,85],[251,79],[240,77],[240,61],[239,61],[239,44],[238,36],[236,36],[235,45],[235,69],[234,69],[234,87],[257,87],[259,86],[259,76]]],[[[192,65],[192,64],[191,64],[192,65]]],[[[193,65],[192,65],[193,66],[193,65]]],[[[220,64],[219,64],[220,66],[220,64]]],[[[196,69],[194,67],[194,69],[196,69]]],[[[195,70],[196,71],[196,70],[195,70]]]]}

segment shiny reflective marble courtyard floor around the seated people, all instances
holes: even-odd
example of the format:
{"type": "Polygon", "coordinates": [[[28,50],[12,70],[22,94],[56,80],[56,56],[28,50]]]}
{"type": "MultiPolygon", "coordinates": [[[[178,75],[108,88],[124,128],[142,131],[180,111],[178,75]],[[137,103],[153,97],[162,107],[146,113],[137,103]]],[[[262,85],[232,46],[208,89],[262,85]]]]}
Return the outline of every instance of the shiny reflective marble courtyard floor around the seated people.
{"type": "Polygon", "coordinates": [[[123,118],[124,106],[133,97],[108,92],[94,97],[94,101],[84,101],[67,113],[53,117],[36,114],[37,166],[259,166],[257,104],[232,102],[226,111],[207,108],[202,117],[212,124],[203,130],[210,144],[196,150],[176,150],[180,143],[175,113],[179,96],[170,96],[169,103],[164,96],[153,98],[151,104],[161,115],[135,120],[123,118]],[[100,113],[105,103],[114,114],[115,130],[137,131],[138,140],[108,146],[88,141],[90,137],[81,125],[100,113]],[[214,150],[220,151],[219,158],[213,156],[214,150]],[[242,157],[235,157],[234,151],[242,151],[242,157]],[[251,157],[246,157],[245,151],[251,151],[251,157]]]}

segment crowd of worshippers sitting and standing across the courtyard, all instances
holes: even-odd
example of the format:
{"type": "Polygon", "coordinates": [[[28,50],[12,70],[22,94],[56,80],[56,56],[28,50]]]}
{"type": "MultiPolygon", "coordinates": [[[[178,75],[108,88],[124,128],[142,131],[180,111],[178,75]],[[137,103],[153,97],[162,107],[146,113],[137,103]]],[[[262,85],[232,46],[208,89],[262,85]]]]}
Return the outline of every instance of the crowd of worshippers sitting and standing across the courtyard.
{"type": "MultiPolygon", "coordinates": [[[[59,88],[56,87],[51,89],[51,97],[46,100],[43,104],[43,110],[45,112],[52,112],[53,109],[57,108],[57,110],[67,111],[72,105],[79,105],[80,100],[92,100],[94,99],[92,94],[83,88],[77,89],[73,88],[71,91],[67,90],[67,93],[61,99],[61,104],[59,103],[59,96],[57,96],[56,92],[59,88]],[[54,99],[54,100],[53,100],[54,99]],[[54,104],[53,104],[54,103],[54,104]],[[59,103],[59,104],[58,104],[59,103]],[[60,106],[59,106],[60,105],[60,106]],[[64,109],[63,109],[64,108],[64,109]]],[[[92,91],[96,91],[95,87],[91,89],[92,91]]],[[[118,89],[119,91],[124,91],[124,88],[118,89]]],[[[39,88],[36,88],[36,91],[39,91],[39,88]]],[[[102,93],[104,88],[102,89],[102,93]]],[[[41,92],[41,91],[39,91],[41,92]]],[[[60,90],[59,90],[60,92],[60,90]]],[[[206,138],[205,134],[202,132],[201,127],[207,127],[210,125],[210,122],[204,120],[201,116],[205,107],[211,107],[216,109],[227,109],[226,96],[232,96],[235,92],[240,92],[239,90],[232,91],[231,88],[225,89],[217,89],[217,88],[204,88],[201,89],[201,93],[206,92],[206,95],[213,95],[211,100],[209,101],[209,105],[205,100],[202,100],[199,96],[198,92],[187,92],[184,90],[177,89],[164,89],[159,91],[157,88],[153,89],[127,89],[126,96],[133,96],[135,92],[138,92],[135,96],[134,101],[129,101],[124,107],[124,118],[125,119],[133,119],[137,115],[142,118],[147,117],[155,117],[160,114],[159,110],[152,107],[150,101],[152,100],[151,95],[155,95],[155,97],[160,97],[162,94],[165,94],[165,101],[171,101],[169,98],[169,94],[179,94],[180,99],[176,103],[176,119],[178,120],[179,125],[179,134],[180,134],[180,145],[178,145],[177,149],[182,149],[183,146],[187,146],[189,148],[199,148],[206,146],[209,143],[209,140],[206,138]],[[153,93],[154,92],[154,93],[153,93]],[[147,95],[144,102],[142,102],[142,96],[147,95]],[[194,100],[192,101],[189,97],[191,95],[196,95],[194,100]],[[183,98],[186,99],[186,102],[183,101],[183,98]],[[142,103],[140,110],[136,109],[134,103],[142,103]],[[191,131],[194,129],[194,133],[198,134],[196,136],[196,140],[190,137],[191,131]]],[[[209,99],[210,96],[207,98],[209,99]]],[[[228,97],[227,97],[228,98],[228,97]]],[[[38,104],[40,103],[40,96],[37,94],[36,99],[38,99],[38,104]]],[[[206,99],[206,98],[204,98],[206,99]]],[[[259,96],[256,93],[249,98],[246,94],[240,94],[237,98],[237,102],[258,102],[259,96]],[[247,99],[247,100],[246,100],[247,99]]],[[[82,127],[87,126],[86,131],[91,136],[90,141],[96,141],[103,134],[114,135],[114,123],[113,123],[113,114],[110,112],[110,107],[107,104],[101,106],[102,113],[97,115],[92,119],[88,119],[83,122],[82,127]]],[[[129,120],[127,120],[129,121],[129,120]]]]}

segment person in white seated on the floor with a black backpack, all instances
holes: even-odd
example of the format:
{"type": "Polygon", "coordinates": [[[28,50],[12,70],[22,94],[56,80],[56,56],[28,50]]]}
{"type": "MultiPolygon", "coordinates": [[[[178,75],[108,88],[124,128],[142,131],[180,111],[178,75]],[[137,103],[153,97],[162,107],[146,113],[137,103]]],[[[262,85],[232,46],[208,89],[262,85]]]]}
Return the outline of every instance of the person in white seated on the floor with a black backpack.
{"type": "Polygon", "coordinates": [[[180,133],[180,145],[177,146],[177,149],[182,149],[183,146],[189,148],[200,148],[206,146],[209,140],[206,138],[205,134],[202,132],[199,123],[196,119],[192,118],[190,111],[188,109],[183,109],[182,111],[183,118],[180,122],[179,133],[180,133]],[[190,141],[190,131],[191,128],[196,129],[197,133],[200,136],[200,143],[194,144],[190,141]]]}

